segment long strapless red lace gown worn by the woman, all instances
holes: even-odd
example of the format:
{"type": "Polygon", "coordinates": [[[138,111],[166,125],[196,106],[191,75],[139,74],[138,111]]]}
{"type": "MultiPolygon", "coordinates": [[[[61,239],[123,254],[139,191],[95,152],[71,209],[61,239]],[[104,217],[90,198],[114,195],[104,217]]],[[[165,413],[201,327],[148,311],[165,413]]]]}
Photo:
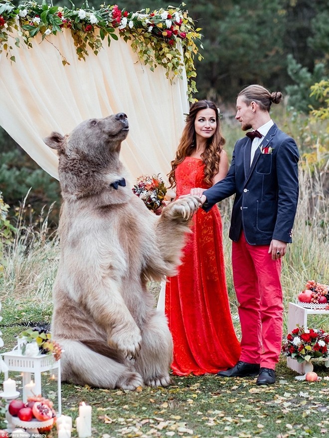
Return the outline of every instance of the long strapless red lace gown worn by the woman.
{"type": "MultiPolygon", "coordinates": [[[[175,172],[176,196],[193,187],[208,188],[201,159],[186,157],[175,172]]],[[[233,367],[240,345],[232,324],[227,295],[218,207],[201,208],[187,235],[182,265],[168,278],[165,314],[173,338],[174,375],[215,374],[233,367]]]]}

